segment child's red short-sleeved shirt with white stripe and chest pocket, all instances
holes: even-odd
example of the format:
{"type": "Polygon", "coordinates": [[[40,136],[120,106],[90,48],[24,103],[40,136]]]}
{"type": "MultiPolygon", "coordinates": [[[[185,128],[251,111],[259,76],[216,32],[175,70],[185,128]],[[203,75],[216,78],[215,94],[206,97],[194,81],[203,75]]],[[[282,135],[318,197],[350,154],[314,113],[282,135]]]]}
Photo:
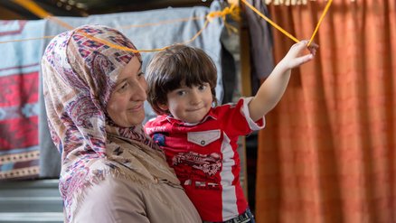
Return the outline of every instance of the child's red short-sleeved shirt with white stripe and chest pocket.
{"type": "Polygon", "coordinates": [[[251,120],[248,104],[213,107],[199,124],[172,116],[146,123],[146,133],[165,151],[185,192],[205,221],[235,218],[248,208],[240,186],[238,137],[262,129],[264,118],[251,120]]]}

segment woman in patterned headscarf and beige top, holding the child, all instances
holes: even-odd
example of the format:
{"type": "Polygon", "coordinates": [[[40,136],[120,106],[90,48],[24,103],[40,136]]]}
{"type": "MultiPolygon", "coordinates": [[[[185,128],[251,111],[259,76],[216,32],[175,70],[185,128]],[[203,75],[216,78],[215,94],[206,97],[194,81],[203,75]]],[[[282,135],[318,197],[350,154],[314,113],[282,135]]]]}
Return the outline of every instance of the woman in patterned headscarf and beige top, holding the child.
{"type": "Polygon", "coordinates": [[[44,52],[65,222],[201,222],[142,129],[146,79],[140,55],[127,48],[136,49],[122,33],[85,25],[59,34],[44,52]]]}

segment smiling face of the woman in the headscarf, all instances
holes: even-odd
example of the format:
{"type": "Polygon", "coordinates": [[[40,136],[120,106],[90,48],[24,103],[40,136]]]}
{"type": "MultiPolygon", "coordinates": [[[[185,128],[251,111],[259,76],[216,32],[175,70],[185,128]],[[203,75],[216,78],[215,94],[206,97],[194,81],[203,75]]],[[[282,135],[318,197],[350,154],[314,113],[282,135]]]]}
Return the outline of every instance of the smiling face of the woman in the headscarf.
{"type": "Polygon", "coordinates": [[[145,118],[147,83],[141,69],[140,61],[133,57],[118,76],[106,108],[117,125],[140,125],[145,118]]]}

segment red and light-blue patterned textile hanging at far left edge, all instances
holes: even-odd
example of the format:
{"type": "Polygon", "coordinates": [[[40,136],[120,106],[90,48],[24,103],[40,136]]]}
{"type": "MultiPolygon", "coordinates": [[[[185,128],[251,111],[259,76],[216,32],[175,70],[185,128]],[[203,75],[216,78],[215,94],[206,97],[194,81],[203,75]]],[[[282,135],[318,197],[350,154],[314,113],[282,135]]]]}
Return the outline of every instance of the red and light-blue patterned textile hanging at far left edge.
{"type": "Polygon", "coordinates": [[[39,174],[39,71],[44,21],[0,21],[0,180],[39,174]]]}

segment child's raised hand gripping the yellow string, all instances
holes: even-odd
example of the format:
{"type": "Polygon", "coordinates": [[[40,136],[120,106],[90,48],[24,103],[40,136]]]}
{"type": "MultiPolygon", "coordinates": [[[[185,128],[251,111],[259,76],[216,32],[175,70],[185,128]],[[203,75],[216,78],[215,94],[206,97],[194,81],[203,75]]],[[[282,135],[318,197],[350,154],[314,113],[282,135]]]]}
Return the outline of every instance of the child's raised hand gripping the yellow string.
{"type": "Polygon", "coordinates": [[[287,69],[293,69],[309,60],[312,60],[319,46],[316,43],[311,42],[311,44],[306,47],[307,43],[308,41],[301,41],[291,46],[288,54],[286,54],[286,56],[279,63],[282,63],[287,69]],[[299,56],[304,49],[307,49],[310,51],[310,53],[304,56],[299,56]]]}

